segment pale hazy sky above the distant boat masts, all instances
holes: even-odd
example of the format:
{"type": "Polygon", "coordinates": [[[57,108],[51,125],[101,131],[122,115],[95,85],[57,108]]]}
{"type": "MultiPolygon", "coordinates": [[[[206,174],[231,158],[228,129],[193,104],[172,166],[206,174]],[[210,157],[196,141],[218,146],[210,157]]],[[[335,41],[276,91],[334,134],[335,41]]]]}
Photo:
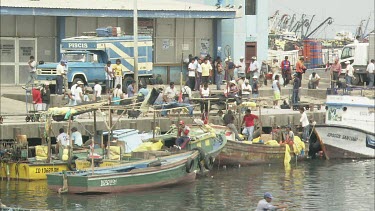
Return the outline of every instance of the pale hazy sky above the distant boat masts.
{"type": "Polygon", "coordinates": [[[333,23],[320,28],[313,37],[333,38],[343,30],[355,33],[361,20],[366,20],[365,25],[370,15],[367,32],[374,30],[374,4],[374,0],[269,0],[268,12],[271,16],[280,10],[281,15],[296,14],[297,18],[306,14],[309,19],[315,15],[310,31],[332,17],[333,23]]]}

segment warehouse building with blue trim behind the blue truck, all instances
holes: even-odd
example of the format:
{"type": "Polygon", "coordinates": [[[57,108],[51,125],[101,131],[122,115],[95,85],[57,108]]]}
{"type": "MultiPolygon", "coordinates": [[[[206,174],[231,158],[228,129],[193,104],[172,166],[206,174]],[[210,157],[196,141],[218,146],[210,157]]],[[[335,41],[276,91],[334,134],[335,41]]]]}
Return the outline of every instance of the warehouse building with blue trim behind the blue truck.
{"type": "MultiPolygon", "coordinates": [[[[179,78],[189,54],[267,58],[267,0],[138,0],[138,33],[154,43],[154,73],[179,78]],[[215,6],[221,3],[221,7],[215,6]],[[262,36],[258,36],[262,35],[262,36]]],[[[24,84],[27,62],[60,60],[60,40],[99,27],[133,34],[133,0],[2,0],[0,83],[24,84]]]]}

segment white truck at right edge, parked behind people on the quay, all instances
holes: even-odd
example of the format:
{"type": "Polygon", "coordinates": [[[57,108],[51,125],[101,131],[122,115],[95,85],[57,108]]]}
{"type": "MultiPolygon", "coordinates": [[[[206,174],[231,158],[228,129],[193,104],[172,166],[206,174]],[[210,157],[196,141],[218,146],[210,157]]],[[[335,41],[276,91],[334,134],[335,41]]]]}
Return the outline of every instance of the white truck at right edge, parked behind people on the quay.
{"type": "Polygon", "coordinates": [[[361,82],[368,83],[366,68],[371,59],[375,59],[375,33],[369,34],[368,43],[352,43],[344,46],[341,53],[340,63],[342,68],[346,68],[346,61],[354,68],[353,85],[361,82]]]}

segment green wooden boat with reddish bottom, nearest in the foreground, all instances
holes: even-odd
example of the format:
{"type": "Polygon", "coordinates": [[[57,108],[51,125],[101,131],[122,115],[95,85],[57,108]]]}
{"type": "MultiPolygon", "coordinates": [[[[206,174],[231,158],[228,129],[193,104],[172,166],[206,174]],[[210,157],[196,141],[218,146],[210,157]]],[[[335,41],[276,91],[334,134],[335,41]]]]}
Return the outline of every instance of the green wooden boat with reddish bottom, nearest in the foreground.
{"type": "Polygon", "coordinates": [[[48,188],[67,193],[112,193],[148,190],[192,182],[198,168],[198,151],[95,168],[47,174],[48,188]]]}

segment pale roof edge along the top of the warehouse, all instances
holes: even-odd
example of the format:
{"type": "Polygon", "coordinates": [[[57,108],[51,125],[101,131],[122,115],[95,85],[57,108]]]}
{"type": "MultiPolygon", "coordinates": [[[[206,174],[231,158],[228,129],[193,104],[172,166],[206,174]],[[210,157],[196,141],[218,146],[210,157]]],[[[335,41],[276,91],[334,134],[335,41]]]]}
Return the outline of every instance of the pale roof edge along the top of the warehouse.
{"type": "MultiPolygon", "coordinates": [[[[72,10],[133,10],[133,0],[1,0],[2,9],[46,8],[72,10]]],[[[138,10],[144,11],[212,11],[235,12],[235,9],[196,4],[178,0],[137,0],[138,10]]],[[[37,14],[35,14],[37,15],[37,14]]]]}

